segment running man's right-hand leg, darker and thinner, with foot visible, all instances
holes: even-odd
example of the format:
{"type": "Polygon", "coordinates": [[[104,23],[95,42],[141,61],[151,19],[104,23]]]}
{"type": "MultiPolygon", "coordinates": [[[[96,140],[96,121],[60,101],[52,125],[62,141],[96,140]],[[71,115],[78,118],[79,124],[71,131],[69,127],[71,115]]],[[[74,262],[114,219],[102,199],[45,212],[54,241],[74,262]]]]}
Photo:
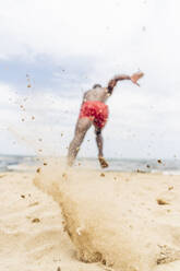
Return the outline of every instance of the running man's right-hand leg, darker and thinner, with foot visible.
{"type": "Polygon", "coordinates": [[[98,149],[98,160],[99,160],[100,166],[108,167],[108,163],[104,158],[104,153],[103,153],[104,139],[101,137],[101,129],[95,128],[95,133],[96,133],[96,143],[97,143],[97,149],[98,149]]]}

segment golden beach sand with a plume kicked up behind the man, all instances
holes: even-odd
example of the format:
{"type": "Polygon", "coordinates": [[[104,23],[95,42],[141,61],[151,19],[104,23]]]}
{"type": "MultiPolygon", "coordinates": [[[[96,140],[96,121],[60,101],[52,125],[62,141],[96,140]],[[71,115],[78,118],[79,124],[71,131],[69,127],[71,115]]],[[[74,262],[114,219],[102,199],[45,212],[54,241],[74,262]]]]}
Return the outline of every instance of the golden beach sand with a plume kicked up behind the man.
{"type": "Polygon", "coordinates": [[[0,174],[0,270],[180,270],[180,176],[47,164],[0,174]]]}

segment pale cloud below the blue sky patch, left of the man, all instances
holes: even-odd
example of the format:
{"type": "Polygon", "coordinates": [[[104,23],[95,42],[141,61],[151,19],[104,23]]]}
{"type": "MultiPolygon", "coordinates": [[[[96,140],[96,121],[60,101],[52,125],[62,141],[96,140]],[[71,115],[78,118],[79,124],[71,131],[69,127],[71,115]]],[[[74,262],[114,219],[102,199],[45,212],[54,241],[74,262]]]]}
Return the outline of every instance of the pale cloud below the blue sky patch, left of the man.
{"type": "Polygon", "coordinates": [[[46,155],[62,155],[67,152],[69,131],[76,120],[80,98],[75,101],[53,95],[50,90],[46,90],[44,95],[41,91],[23,94],[14,86],[2,83],[0,93],[0,129],[3,131],[0,152],[4,152],[4,146],[8,150],[14,141],[19,144],[17,153],[22,152],[21,144],[26,146],[27,153],[29,150],[31,153],[43,150],[38,154],[46,155]],[[7,140],[4,134],[8,136],[7,140]]]}

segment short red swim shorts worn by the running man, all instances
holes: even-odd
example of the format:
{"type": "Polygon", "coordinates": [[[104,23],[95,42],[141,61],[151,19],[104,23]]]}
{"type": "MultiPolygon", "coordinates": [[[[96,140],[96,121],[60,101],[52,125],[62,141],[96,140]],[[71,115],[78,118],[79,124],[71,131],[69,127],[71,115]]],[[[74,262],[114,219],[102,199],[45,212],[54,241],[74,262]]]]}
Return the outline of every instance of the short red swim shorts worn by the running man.
{"type": "Polygon", "coordinates": [[[99,101],[87,101],[83,103],[79,118],[89,118],[95,127],[104,128],[108,119],[108,106],[99,101]]]}

